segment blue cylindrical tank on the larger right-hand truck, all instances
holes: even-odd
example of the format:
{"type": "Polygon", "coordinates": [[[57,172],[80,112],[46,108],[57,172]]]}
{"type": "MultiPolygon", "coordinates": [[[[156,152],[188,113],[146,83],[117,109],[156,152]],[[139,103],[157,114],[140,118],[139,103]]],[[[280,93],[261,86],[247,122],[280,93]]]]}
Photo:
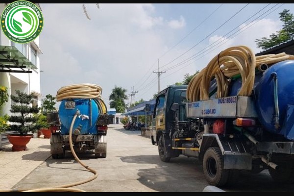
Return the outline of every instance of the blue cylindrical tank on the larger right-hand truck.
{"type": "MultiPolygon", "coordinates": [[[[229,96],[238,94],[242,79],[232,80],[229,96]]],[[[294,105],[294,60],[278,62],[270,66],[265,72],[255,75],[252,97],[255,99],[256,112],[263,127],[270,132],[284,134],[281,131],[286,118],[287,106],[294,105]],[[279,111],[279,128],[275,128],[274,79],[272,73],[277,75],[277,100],[279,111]]],[[[292,136],[291,136],[292,137],[292,136]]]]}

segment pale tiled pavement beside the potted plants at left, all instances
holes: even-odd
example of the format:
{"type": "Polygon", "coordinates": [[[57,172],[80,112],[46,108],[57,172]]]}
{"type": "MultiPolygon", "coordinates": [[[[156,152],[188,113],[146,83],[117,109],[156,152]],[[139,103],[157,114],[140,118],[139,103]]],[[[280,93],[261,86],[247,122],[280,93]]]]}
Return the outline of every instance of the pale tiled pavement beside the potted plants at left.
{"type": "Polygon", "coordinates": [[[24,151],[12,151],[8,144],[0,148],[0,192],[11,189],[51,156],[50,139],[33,137],[24,151]]]}

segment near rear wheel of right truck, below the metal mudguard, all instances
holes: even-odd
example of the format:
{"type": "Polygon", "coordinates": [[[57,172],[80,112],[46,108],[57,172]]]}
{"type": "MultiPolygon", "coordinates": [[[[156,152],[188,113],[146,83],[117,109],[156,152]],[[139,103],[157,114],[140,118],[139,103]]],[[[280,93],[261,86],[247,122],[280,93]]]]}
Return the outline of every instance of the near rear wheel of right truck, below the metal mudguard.
{"type": "Polygon", "coordinates": [[[223,156],[219,147],[210,147],[203,157],[203,172],[207,182],[213,186],[227,183],[229,170],[223,169],[223,156]]]}

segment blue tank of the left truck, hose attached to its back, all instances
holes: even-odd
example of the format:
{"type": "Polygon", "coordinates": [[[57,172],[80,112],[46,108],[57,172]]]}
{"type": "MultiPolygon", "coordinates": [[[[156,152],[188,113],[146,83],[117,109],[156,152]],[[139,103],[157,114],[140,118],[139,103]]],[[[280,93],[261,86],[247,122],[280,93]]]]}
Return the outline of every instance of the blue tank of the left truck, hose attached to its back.
{"type": "Polygon", "coordinates": [[[80,129],[80,134],[97,134],[96,122],[99,117],[98,103],[94,99],[64,99],[59,105],[61,134],[69,134],[73,116],[79,115],[73,124],[73,131],[80,129]]]}

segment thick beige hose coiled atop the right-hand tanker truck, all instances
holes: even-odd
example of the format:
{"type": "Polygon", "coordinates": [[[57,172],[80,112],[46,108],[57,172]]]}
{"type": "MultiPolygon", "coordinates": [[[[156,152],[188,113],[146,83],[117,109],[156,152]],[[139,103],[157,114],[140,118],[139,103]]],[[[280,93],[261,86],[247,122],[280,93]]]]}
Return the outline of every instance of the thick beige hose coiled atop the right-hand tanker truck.
{"type": "Polygon", "coordinates": [[[242,77],[242,86],[238,96],[250,96],[256,68],[261,64],[271,65],[293,59],[294,55],[285,52],[255,56],[253,51],[246,46],[230,47],[216,55],[204,69],[191,79],[186,97],[189,101],[209,99],[210,82],[214,78],[217,82],[216,98],[227,97],[231,78],[238,75],[242,77]]]}

